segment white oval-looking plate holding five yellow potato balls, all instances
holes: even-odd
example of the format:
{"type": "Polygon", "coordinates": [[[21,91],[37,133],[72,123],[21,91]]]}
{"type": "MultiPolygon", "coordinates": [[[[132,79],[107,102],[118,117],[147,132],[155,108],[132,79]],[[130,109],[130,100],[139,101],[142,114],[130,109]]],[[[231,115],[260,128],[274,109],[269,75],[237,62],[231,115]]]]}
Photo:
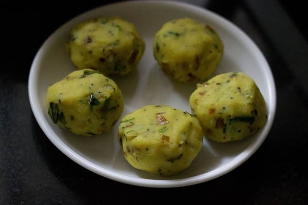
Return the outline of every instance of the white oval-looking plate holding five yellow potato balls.
{"type": "Polygon", "coordinates": [[[181,187],[217,178],[237,168],[260,147],[273,124],[276,90],[268,64],[252,40],[221,16],[197,6],[166,1],[133,1],[103,6],[77,16],[57,29],[37,52],[29,74],[29,99],[34,116],[51,142],[84,168],[104,177],[145,187],[181,187]],[[188,99],[196,86],[169,80],[158,68],[152,54],[152,39],[160,27],[175,18],[190,17],[211,25],[221,36],[225,53],[215,74],[241,71],[259,86],[268,110],[266,126],[248,139],[219,144],[204,139],[203,148],[191,166],[172,177],[160,177],[131,167],[122,156],[117,141],[118,125],[96,137],[71,134],[53,124],[47,114],[46,91],[75,70],[65,52],[72,27],[97,16],[121,16],[136,25],[146,49],[138,69],[128,76],[115,78],[123,92],[123,115],[145,105],[165,104],[189,111],[188,99]]]}

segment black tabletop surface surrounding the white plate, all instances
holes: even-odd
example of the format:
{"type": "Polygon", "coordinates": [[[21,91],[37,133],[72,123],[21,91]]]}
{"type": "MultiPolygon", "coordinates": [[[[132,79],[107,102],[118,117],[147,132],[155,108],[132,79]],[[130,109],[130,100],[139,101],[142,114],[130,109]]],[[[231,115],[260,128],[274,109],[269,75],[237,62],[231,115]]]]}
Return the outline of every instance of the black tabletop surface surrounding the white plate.
{"type": "Polygon", "coordinates": [[[112,181],[74,163],[49,141],[29,105],[28,74],[44,40],[70,18],[103,2],[107,3],[0,3],[0,204],[161,204],[164,199],[189,204],[308,204],[308,38],[299,20],[307,15],[298,12],[303,5],[204,5],[245,31],[268,60],[277,87],[274,125],[259,150],[236,170],[199,185],[155,189],[112,181]]]}

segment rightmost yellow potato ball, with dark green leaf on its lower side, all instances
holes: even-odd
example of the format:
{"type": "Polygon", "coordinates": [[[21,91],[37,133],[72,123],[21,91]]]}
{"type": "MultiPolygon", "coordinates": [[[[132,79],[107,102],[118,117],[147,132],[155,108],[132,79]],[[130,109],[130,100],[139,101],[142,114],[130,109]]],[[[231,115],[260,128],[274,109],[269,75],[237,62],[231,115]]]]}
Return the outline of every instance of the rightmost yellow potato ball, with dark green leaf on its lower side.
{"type": "Polygon", "coordinates": [[[220,74],[198,84],[189,104],[205,136],[219,142],[251,136],[267,119],[260,90],[251,77],[241,72],[220,74]]]}

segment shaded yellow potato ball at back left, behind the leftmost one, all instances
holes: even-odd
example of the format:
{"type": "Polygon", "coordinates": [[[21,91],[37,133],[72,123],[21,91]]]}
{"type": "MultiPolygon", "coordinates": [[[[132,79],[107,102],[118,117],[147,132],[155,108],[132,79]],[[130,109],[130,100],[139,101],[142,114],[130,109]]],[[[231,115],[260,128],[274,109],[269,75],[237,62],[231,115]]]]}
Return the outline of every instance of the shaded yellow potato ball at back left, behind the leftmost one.
{"type": "Polygon", "coordinates": [[[119,17],[92,18],[73,28],[66,48],[78,69],[125,75],[139,63],[144,42],[136,27],[119,17]]]}

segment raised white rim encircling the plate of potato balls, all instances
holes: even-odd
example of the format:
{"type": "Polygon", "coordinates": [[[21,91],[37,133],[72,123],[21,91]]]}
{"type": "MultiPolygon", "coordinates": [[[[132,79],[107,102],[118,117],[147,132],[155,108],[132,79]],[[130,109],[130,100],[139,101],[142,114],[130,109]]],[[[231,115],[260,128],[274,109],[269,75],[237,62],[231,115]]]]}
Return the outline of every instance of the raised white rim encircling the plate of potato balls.
{"type": "MultiPolygon", "coordinates": [[[[129,2],[117,2],[112,4],[106,4],[97,8],[93,8],[91,10],[85,11],[79,15],[74,16],[73,18],[69,19],[67,22],[65,22],[63,25],[61,25],[59,28],[57,28],[53,33],[51,33],[48,38],[45,40],[45,42],[42,44],[42,46],[38,49],[37,53],[35,54],[35,57],[32,61],[30,72],[29,72],[29,78],[28,78],[28,95],[29,95],[29,101],[30,106],[32,109],[32,112],[34,114],[34,117],[38,123],[38,125],[41,127],[45,135],[49,138],[49,140],[54,144],[62,153],[64,153],[66,156],[68,156],[71,160],[78,163],[80,166],[90,170],[93,173],[96,173],[100,176],[127,183],[129,185],[135,185],[135,186],[141,186],[141,187],[156,187],[156,188],[171,188],[171,187],[184,187],[184,186],[190,186],[190,185],[196,185],[197,183],[202,183],[205,181],[209,181],[215,178],[218,178],[234,169],[242,165],[243,162],[245,162],[247,159],[249,159],[262,145],[263,141],[266,139],[269,131],[272,128],[273,121],[275,118],[276,113],[276,86],[274,77],[271,71],[271,68],[269,67],[265,56],[261,52],[261,50],[258,48],[258,46],[253,42],[253,40],[244,33],[237,25],[230,22],[228,19],[220,16],[219,14],[210,11],[206,8],[202,8],[193,4],[184,3],[184,2],[175,2],[175,1],[129,1],[129,2]],[[241,35],[241,39],[244,41],[245,45],[249,45],[248,47],[254,51],[256,54],[255,57],[257,57],[260,60],[260,64],[262,64],[262,69],[265,71],[265,74],[267,76],[266,81],[268,81],[268,95],[269,95],[269,103],[267,105],[268,107],[268,118],[267,118],[267,126],[262,130],[262,135],[264,137],[259,138],[254,144],[249,145],[247,148],[245,148],[244,153],[240,153],[238,156],[236,156],[231,161],[227,162],[225,165],[219,167],[215,170],[211,170],[209,172],[199,174],[196,176],[186,177],[186,178],[180,178],[180,179],[145,179],[145,178],[138,178],[138,177],[131,177],[131,176],[125,176],[123,174],[115,174],[112,171],[99,167],[98,165],[95,165],[92,161],[82,157],[80,154],[74,152],[68,145],[65,144],[64,141],[62,141],[59,136],[54,132],[54,130],[49,129],[48,125],[44,122],[43,114],[38,111],[35,107],[38,105],[38,97],[34,95],[35,93],[35,82],[37,82],[35,79],[37,79],[38,71],[39,69],[35,69],[35,65],[37,65],[37,62],[41,59],[40,57],[44,54],[43,48],[47,47],[48,43],[50,43],[50,39],[52,36],[57,33],[62,27],[64,27],[66,24],[72,22],[75,18],[78,18],[82,15],[89,14],[95,10],[100,10],[102,8],[108,7],[108,6],[114,6],[114,5],[125,5],[125,4],[161,4],[166,6],[172,6],[172,7],[181,7],[187,10],[195,10],[201,13],[207,13],[208,15],[211,15],[211,17],[218,19],[219,24],[223,24],[227,26],[228,31],[232,31],[234,33],[237,33],[238,35],[241,35]],[[232,28],[230,30],[230,28],[232,28]],[[49,132],[47,132],[49,131],[49,132]],[[250,152],[245,152],[247,149],[251,150],[250,152]],[[236,161],[236,162],[234,162],[236,161]]],[[[261,130],[260,130],[261,131],[261,130]]]]}

